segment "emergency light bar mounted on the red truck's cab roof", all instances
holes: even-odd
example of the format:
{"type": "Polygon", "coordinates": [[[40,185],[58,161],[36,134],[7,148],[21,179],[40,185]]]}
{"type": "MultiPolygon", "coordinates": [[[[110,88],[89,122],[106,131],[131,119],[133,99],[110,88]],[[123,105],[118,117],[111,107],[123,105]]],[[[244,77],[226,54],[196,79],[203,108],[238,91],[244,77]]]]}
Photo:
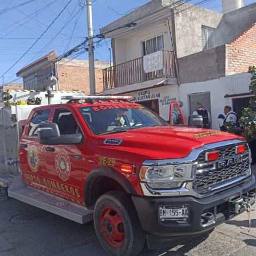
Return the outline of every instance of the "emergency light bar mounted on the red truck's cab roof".
{"type": "Polygon", "coordinates": [[[85,100],[87,103],[94,103],[97,100],[132,100],[132,96],[62,96],[62,100],[69,100],[68,103],[85,100]]]}

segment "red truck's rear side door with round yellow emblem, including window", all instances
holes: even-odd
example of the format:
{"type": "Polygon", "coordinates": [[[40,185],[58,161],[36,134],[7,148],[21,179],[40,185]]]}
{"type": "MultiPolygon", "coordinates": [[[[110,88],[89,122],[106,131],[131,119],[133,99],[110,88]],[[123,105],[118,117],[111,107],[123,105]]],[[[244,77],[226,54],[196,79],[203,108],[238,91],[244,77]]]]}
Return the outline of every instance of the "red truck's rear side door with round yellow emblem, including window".
{"type": "Polygon", "coordinates": [[[20,139],[20,167],[25,180],[33,186],[39,186],[44,170],[44,145],[38,142],[37,126],[49,122],[51,109],[32,111],[29,124],[20,139]]]}

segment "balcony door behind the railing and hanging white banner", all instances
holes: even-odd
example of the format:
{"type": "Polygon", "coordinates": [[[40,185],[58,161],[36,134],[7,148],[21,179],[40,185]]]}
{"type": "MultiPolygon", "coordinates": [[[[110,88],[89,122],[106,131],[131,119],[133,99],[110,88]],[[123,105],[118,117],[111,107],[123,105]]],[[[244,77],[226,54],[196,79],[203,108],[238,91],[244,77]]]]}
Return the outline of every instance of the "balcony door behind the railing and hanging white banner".
{"type": "MultiPolygon", "coordinates": [[[[148,55],[153,52],[162,51],[164,50],[164,36],[156,36],[153,38],[150,38],[144,42],[142,42],[142,54],[143,56],[148,55]]],[[[159,77],[163,75],[163,70],[157,70],[154,72],[146,73],[145,79],[153,79],[155,77],[159,77]]]]}

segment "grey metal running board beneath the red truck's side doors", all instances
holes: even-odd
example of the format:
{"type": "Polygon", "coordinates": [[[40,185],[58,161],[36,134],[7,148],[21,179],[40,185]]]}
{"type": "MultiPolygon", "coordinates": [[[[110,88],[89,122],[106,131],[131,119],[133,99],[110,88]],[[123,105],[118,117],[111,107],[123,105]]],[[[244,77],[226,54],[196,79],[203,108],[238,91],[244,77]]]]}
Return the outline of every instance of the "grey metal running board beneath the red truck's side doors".
{"type": "Polygon", "coordinates": [[[17,176],[12,182],[8,189],[8,195],[21,202],[81,224],[93,220],[93,212],[86,209],[86,207],[68,202],[36,188],[31,188],[23,182],[21,175],[17,176]]]}

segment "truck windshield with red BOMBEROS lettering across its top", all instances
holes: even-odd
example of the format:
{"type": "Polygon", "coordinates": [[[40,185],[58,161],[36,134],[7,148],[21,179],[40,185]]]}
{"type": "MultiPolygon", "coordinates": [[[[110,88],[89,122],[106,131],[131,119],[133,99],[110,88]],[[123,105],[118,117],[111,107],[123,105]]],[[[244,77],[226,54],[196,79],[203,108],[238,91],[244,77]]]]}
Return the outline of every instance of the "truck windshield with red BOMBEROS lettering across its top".
{"type": "Polygon", "coordinates": [[[140,105],[102,105],[78,108],[92,133],[103,135],[169,123],[140,105]]]}

